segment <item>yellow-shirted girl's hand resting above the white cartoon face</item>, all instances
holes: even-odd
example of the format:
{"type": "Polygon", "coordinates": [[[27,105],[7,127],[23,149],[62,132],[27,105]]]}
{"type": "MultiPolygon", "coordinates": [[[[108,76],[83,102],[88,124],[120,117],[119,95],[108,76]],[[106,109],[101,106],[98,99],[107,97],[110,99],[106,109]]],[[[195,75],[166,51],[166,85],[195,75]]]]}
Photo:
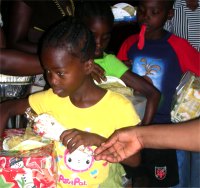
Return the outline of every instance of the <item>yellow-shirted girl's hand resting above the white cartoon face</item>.
{"type": "Polygon", "coordinates": [[[60,140],[67,147],[70,153],[75,151],[79,146],[100,146],[105,141],[105,138],[86,131],[78,129],[69,129],[64,131],[60,140]]]}

